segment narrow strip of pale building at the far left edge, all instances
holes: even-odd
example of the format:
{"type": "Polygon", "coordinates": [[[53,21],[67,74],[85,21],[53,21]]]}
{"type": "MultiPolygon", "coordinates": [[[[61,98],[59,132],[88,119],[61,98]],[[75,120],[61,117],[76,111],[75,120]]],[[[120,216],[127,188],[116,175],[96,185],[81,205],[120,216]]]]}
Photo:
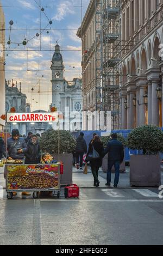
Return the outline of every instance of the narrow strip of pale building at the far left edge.
{"type": "MultiPolygon", "coordinates": [[[[5,114],[5,17],[0,2],[0,117],[5,114]]],[[[2,132],[5,121],[0,118],[0,131],[2,132]]]]}

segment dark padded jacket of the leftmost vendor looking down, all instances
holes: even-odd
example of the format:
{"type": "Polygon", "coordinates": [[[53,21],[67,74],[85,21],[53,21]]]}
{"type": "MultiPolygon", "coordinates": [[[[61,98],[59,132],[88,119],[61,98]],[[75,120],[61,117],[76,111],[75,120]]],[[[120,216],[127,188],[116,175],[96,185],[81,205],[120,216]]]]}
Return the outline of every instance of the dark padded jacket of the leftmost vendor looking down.
{"type": "Polygon", "coordinates": [[[8,156],[12,157],[12,159],[23,159],[24,154],[27,152],[27,144],[24,139],[18,138],[17,140],[13,139],[12,137],[7,140],[7,149],[8,149],[8,156]],[[23,153],[18,153],[17,149],[22,149],[23,153]]]}

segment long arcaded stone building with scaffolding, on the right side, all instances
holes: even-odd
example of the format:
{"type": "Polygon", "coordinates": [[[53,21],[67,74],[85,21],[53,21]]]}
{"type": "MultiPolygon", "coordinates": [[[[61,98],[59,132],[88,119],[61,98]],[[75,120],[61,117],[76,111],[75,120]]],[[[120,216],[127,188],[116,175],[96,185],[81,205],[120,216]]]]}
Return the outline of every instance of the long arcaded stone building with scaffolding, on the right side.
{"type": "MultiPolygon", "coordinates": [[[[77,33],[83,110],[111,111],[112,129],[162,126],[162,17],[162,0],[90,1],[77,33]]],[[[87,115],[83,129],[89,120],[94,130],[87,115]]]]}

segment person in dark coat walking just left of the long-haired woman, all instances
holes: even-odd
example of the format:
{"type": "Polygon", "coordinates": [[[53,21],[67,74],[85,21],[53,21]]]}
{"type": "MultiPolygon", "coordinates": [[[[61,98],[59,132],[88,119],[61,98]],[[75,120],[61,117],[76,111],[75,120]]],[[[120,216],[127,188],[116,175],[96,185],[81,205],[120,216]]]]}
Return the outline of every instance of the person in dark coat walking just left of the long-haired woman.
{"type": "Polygon", "coordinates": [[[87,152],[87,145],[84,139],[84,133],[80,132],[80,135],[77,138],[77,147],[76,147],[77,169],[79,169],[79,157],[80,157],[80,169],[82,169],[83,155],[86,152],[87,152]]]}

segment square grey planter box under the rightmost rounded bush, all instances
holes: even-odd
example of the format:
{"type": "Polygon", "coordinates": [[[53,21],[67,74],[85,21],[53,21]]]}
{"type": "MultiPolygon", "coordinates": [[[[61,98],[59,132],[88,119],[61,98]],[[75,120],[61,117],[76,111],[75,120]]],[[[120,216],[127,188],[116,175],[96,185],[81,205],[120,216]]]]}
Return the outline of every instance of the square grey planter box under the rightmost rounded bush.
{"type": "Polygon", "coordinates": [[[158,187],[160,185],[160,156],[131,155],[130,186],[158,187]]]}

